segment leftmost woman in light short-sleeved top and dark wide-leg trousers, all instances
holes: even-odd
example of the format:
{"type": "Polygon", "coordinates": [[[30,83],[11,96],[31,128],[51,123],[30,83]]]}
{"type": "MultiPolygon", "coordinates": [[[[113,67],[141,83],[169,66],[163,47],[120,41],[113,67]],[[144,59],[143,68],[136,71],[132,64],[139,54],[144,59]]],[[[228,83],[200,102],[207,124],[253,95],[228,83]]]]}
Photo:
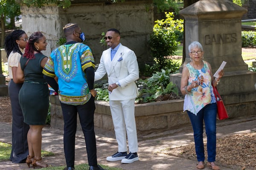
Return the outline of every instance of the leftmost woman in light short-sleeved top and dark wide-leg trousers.
{"type": "Polygon", "coordinates": [[[25,31],[18,29],[9,34],[4,42],[8,58],[8,71],[11,78],[8,91],[12,107],[12,152],[10,161],[13,163],[24,163],[29,153],[27,143],[29,125],[23,122],[23,114],[19,104],[19,91],[23,80],[19,81],[16,77],[20,57],[27,41],[28,36],[25,31]]]}

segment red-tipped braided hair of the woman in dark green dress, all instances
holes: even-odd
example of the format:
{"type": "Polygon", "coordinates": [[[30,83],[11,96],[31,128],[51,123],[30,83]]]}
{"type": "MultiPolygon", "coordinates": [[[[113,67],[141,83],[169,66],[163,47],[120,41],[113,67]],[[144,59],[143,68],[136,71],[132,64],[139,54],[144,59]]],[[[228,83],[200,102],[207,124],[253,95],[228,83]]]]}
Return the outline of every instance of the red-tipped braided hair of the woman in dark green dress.
{"type": "Polygon", "coordinates": [[[35,58],[34,51],[41,53],[41,51],[35,48],[34,43],[39,42],[39,39],[42,37],[44,37],[44,35],[40,31],[34,32],[33,34],[30,35],[29,42],[26,44],[25,53],[23,55],[24,57],[26,57],[27,59],[34,59],[35,58]]]}

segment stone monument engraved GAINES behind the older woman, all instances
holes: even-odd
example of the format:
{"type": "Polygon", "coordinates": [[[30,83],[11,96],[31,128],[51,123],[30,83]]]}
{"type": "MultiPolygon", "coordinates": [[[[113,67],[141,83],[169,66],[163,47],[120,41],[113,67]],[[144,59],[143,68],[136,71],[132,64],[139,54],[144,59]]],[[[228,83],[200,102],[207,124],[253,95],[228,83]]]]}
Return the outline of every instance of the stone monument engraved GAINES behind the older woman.
{"type": "MultiPolygon", "coordinates": [[[[230,117],[255,114],[256,109],[256,72],[248,71],[241,57],[241,17],[246,11],[230,0],[200,0],[180,11],[186,31],[183,65],[189,62],[188,46],[193,41],[202,44],[204,60],[211,64],[212,74],[222,61],[227,62],[218,91],[230,117]]],[[[170,76],[178,88],[180,79],[181,71],[170,76]]]]}

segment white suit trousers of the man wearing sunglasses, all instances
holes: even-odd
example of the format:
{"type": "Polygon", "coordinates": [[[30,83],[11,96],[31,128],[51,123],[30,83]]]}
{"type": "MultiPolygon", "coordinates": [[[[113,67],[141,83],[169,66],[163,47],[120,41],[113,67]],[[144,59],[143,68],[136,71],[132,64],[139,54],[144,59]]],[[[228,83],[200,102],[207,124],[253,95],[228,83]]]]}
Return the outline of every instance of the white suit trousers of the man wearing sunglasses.
{"type": "Polygon", "coordinates": [[[138,151],[137,129],[134,115],[135,98],[130,100],[110,100],[109,105],[118,143],[118,152],[127,151],[126,133],[129,151],[138,151]]]}

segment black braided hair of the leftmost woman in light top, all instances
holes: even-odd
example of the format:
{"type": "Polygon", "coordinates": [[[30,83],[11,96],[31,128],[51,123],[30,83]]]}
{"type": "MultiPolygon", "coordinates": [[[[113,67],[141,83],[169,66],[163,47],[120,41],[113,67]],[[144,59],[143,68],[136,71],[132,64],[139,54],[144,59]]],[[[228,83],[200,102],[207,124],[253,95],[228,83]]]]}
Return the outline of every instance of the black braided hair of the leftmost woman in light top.
{"type": "Polygon", "coordinates": [[[5,41],[4,41],[4,45],[5,45],[5,51],[6,51],[6,57],[8,58],[9,55],[11,54],[11,52],[13,51],[14,53],[19,53],[20,55],[22,55],[22,52],[20,51],[20,48],[18,46],[18,44],[16,43],[16,40],[20,40],[20,37],[26,34],[25,31],[21,30],[21,29],[17,29],[12,31],[11,34],[9,34],[5,41]]]}

